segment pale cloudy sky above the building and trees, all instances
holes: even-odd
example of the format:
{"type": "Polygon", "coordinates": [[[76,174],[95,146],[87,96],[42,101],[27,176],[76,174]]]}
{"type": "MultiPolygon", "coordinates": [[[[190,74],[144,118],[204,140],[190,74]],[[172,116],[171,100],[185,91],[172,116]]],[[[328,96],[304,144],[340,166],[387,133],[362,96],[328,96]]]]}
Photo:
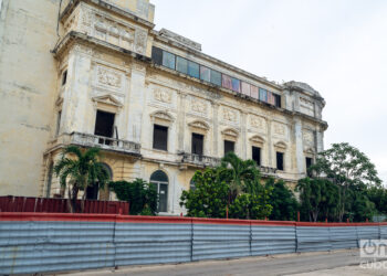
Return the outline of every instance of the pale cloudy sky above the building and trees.
{"type": "Polygon", "coordinates": [[[150,0],[156,30],[271,81],[301,81],[326,100],[325,148],[347,141],[387,184],[386,0],[150,0]]]}

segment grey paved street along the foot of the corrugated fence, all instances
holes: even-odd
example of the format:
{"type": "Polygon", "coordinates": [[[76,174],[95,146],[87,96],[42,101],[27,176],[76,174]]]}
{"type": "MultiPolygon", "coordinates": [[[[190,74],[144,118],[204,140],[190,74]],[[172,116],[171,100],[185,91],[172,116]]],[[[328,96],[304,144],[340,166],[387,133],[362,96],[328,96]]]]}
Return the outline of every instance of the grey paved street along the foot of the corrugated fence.
{"type": "MultiPolygon", "coordinates": [[[[386,275],[387,269],[359,267],[358,250],[208,261],[177,265],[149,265],[101,269],[71,275],[386,275]]],[[[387,263],[385,264],[387,267],[387,263]]]]}

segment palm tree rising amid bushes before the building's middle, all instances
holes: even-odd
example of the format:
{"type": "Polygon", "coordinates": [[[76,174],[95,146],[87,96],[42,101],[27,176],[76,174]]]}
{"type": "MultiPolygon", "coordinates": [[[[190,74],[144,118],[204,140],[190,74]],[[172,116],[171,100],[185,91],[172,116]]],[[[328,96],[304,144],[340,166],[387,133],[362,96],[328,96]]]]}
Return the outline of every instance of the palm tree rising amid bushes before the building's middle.
{"type": "Polygon", "coordinates": [[[229,204],[242,192],[254,194],[260,189],[260,171],[253,160],[242,160],[228,152],[221,161],[220,174],[229,184],[229,204]]]}

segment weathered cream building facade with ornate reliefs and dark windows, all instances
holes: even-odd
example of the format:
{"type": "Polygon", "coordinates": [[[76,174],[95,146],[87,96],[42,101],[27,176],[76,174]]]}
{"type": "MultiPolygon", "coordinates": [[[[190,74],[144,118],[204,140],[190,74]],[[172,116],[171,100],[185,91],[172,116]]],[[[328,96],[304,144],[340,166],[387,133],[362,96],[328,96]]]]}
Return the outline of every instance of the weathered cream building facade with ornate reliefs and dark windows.
{"type": "Polygon", "coordinates": [[[323,149],[316,91],[155,31],[148,0],[38,2],[0,2],[1,194],[61,195],[52,168],[62,148],[101,147],[113,180],[148,180],[159,211],[180,213],[195,171],[227,151],[294,184],[323,149]]]}

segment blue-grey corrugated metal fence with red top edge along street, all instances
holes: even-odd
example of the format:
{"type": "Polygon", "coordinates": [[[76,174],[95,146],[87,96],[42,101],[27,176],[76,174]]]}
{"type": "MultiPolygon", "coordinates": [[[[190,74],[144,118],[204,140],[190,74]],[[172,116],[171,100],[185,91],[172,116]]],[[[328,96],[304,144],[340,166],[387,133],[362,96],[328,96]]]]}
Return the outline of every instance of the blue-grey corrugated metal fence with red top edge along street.
{"type": "Polygon", "coordinates": [[[0,213],[0,274],[330,251],[386,237],[386,223],[0,213]]]}

